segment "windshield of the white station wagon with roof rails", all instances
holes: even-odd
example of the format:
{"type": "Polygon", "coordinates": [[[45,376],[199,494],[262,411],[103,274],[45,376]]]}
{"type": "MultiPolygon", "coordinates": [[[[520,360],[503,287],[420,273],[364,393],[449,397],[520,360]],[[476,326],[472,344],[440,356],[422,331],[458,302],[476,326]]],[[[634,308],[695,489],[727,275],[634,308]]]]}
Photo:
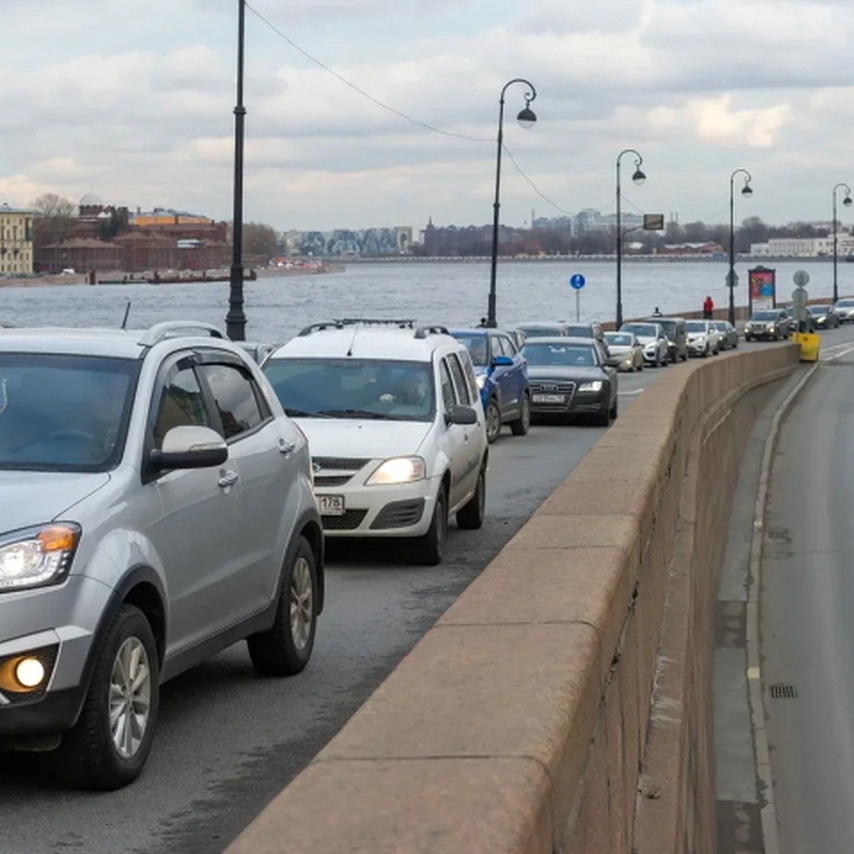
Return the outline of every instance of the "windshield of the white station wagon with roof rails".
{"type": "Polygon", "coordinates": [[[274,359],[264,373],[292,417],[432,421],[436,411],[428,362],[274,359]]]}

